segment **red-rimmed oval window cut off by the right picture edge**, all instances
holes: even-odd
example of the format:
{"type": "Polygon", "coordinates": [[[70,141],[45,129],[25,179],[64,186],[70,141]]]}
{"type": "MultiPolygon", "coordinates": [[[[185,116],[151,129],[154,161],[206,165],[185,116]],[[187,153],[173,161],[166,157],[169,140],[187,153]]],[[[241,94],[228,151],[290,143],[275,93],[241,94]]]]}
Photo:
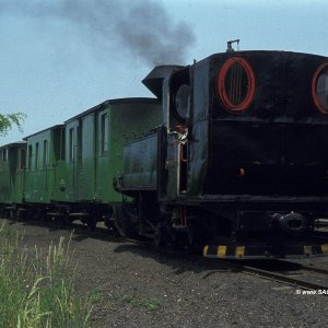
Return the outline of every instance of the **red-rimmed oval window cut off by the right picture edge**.
{"type": "Polygon", "coordinates": [[[312,80],[312,96],[318,110],[328,114],[328,62],[323,63],[312,80]]]}

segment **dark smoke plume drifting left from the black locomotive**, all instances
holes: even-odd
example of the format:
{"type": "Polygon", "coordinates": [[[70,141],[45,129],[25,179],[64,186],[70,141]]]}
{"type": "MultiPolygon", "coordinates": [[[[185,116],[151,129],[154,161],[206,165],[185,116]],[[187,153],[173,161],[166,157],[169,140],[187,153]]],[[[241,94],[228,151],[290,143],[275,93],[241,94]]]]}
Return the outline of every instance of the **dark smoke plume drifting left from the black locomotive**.
{"type": "Polygon", "coordinates": [[[99,51],[119,47],[148,65],[184,63],[195,42],[186,23],[152,0],[1,0],[4,13],[70,22],[99,51]]]}

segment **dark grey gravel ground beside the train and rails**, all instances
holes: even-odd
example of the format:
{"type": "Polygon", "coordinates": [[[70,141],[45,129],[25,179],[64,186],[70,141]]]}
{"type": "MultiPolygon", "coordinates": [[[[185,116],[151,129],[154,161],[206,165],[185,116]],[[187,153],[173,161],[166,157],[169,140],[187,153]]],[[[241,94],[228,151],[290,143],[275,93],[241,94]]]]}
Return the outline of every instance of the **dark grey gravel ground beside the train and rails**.
{"type": "MultiPolygon", "coordinates": [[[[78,292],[94,303],[92,327],[328,327],[327,296],[109,235],[9,224],[24,233],[31,251],[71,235],[78,292]]],[[[316,261],[328,267],[327,259],[316,261]]]]}

